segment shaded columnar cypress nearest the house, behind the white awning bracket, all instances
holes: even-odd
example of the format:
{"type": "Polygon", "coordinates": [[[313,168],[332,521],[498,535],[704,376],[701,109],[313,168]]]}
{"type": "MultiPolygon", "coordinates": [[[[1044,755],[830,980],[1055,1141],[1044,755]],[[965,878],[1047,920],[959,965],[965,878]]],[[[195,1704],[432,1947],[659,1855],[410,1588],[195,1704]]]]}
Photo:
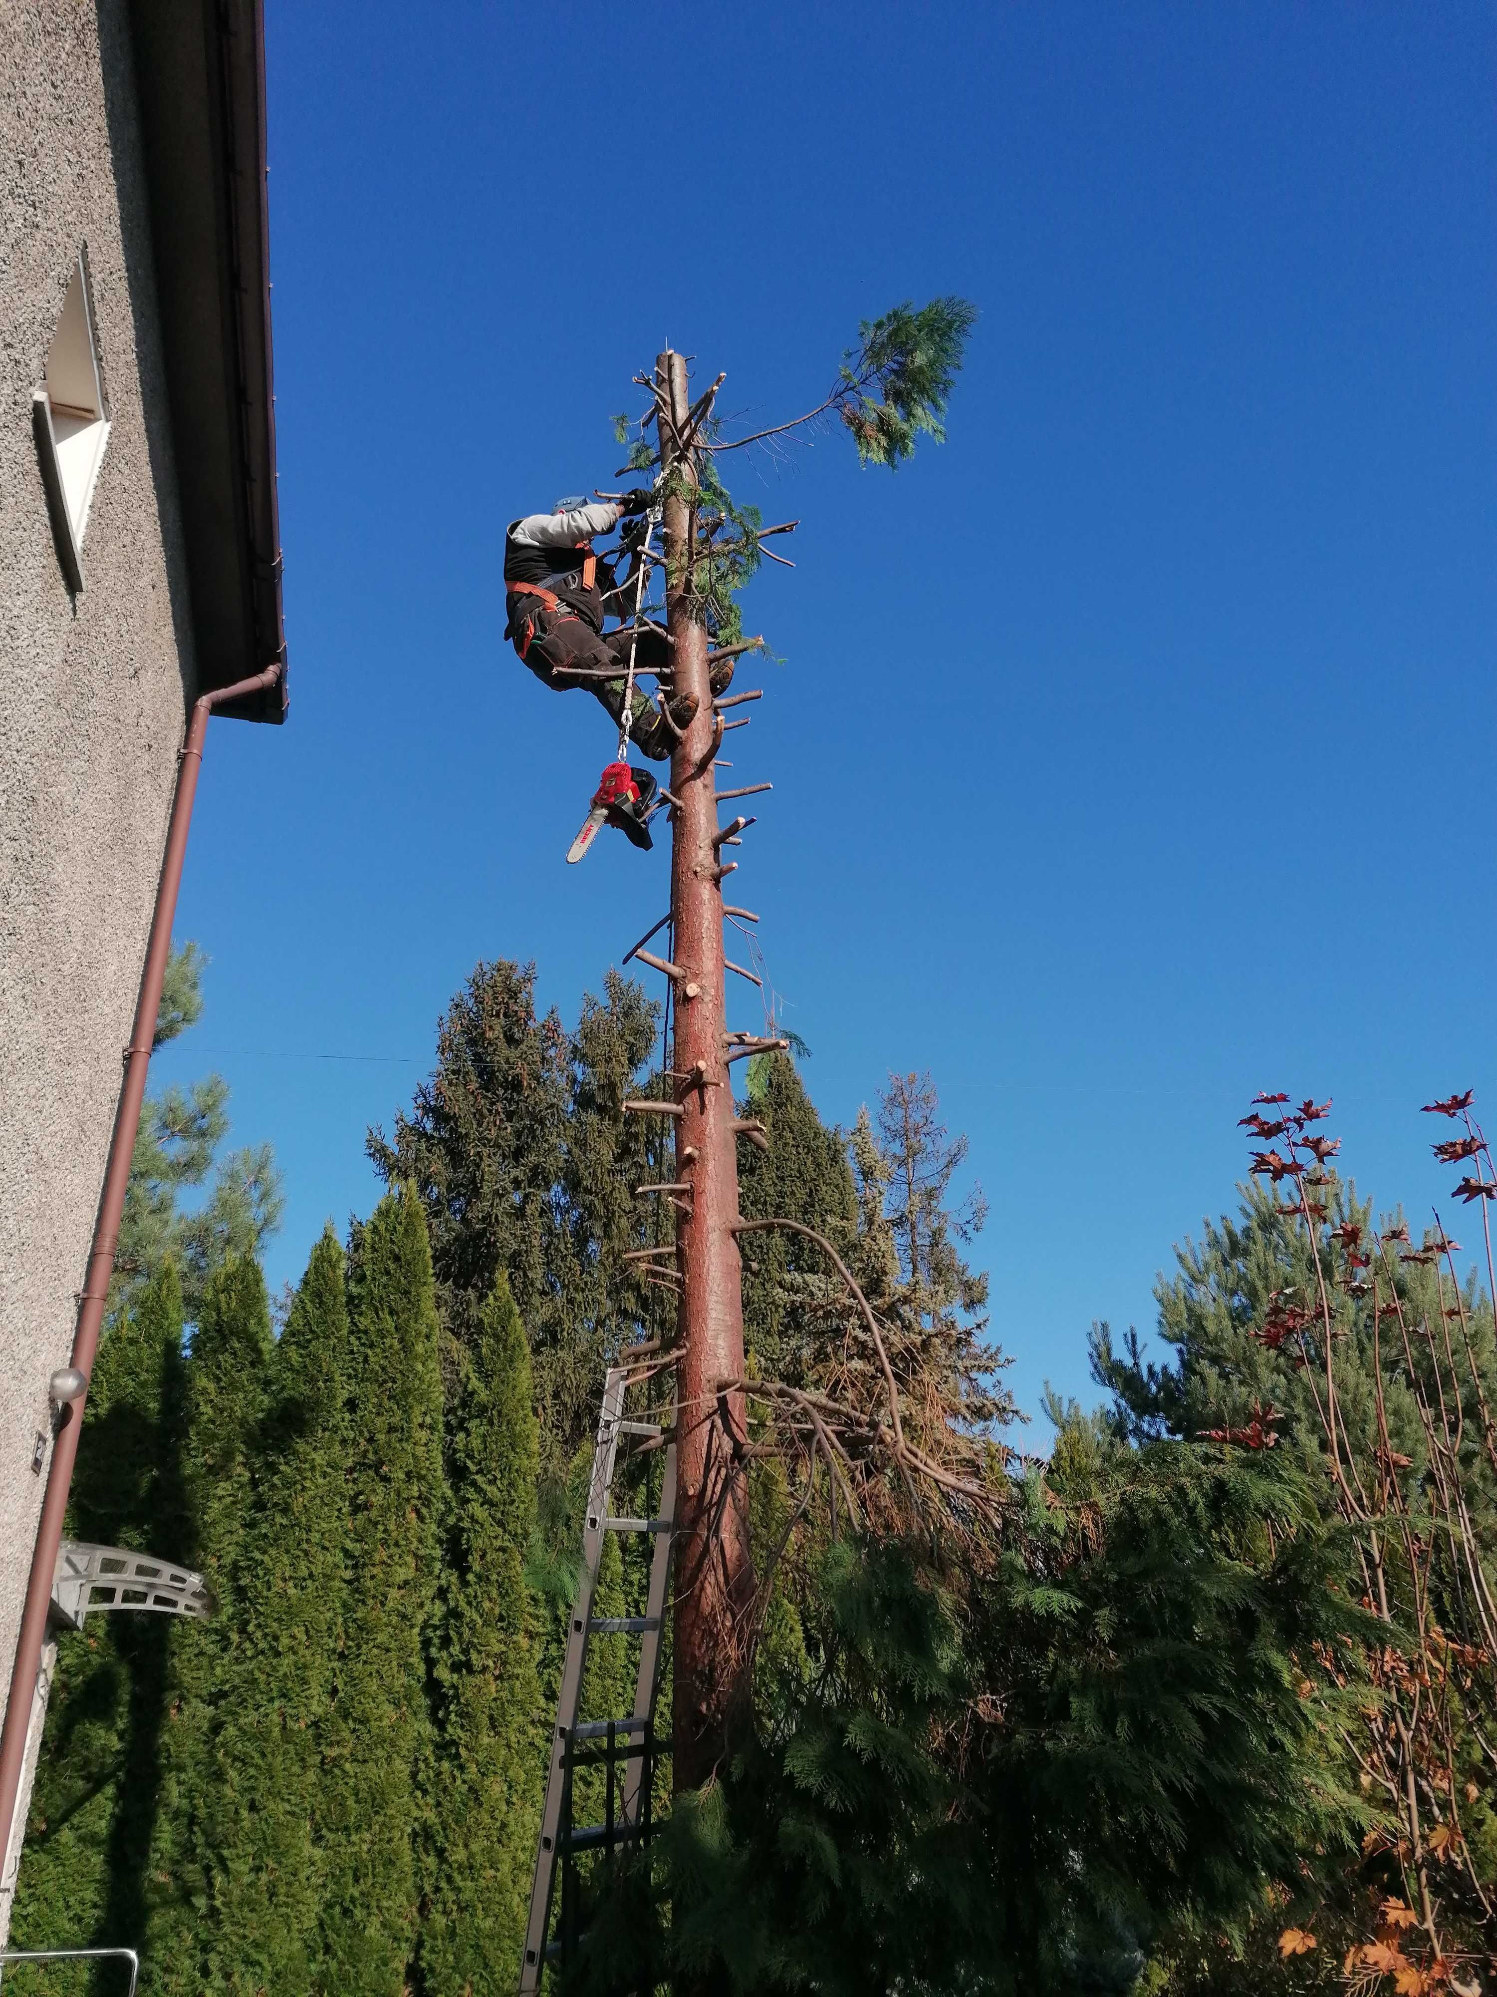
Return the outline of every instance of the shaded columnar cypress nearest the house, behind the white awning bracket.
{"type": "MultiPolygon", "coordinates": [[[[180,1450],[182,1290],[166,1262],[100,1346],[68,1532],[180,1558],[180,1450]]],[[[130,1614],[96,1614],[60,1636],[16,1887],[16,1947],[142,1943],[170,1640],[164,1618],[130,1614]]],[[[22,1971],[12,1975],[28,1987],[22,1971]]],[[[84,1969],[54,1969],[48,1989],[86,1983],[84,1969]]]]}

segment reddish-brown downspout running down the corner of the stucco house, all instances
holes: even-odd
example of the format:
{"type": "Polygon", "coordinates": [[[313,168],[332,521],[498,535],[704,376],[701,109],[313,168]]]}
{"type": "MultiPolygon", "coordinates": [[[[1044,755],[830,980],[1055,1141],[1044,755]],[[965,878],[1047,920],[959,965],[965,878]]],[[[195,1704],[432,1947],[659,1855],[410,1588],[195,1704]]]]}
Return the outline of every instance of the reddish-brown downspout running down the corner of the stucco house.
{"type": "MultiPolygon", "coordinates": [[[[156,1016],[162,1006],[162,983],[166,979],[166,959],[172,949],[172,923],[178,909],[178,889],[182,885],[182,861],[188,853],[188,827],[192,823],[192,801],[198,795],[198,771],[204,759],[204,737],[208,717],[224,701],[238,701],[251,693],[273,687],[281,677],[279,661],[267,665],[253,679],[242,679],[234,687],[216,687],[204,693],[192,709],[188,739],[178,759],[178,789],[172,799],[172,819],[166,827],[166,857],[162,859],[162,885],[156,891],[156,913],[152,915],[150,943],[146,945],[146,971],[140,979],[140,1002],[136,1004],[136,1024],[126,1048],[124,1086],[120,1108],[114,1116],[114,1136],[110,1138],[110,1162],[104,1172],[104,1194],[100,1198],[98,1220],[94,1222],[94,1246],[88,1256],[88,1276],[78,1298],[78,1330],[72,1342],[72,1364],[88,1380],[94,1372],[94,1354],[104,1326],[104,1304],[114,1276],[114,1254],[120,1246],[120,1216],[130,1182],[130,1160],[136,1154],[136,1132],[140,1130],[140,1108],[146,1100],[146,1070],[150,1068],[152,1042],[156,1038],[156,1016]]],[[[42,1498],[42,1518],[36,1528],[36,1552],[32,1554],[32,1574],[26,1582],[26,1608],[20,1616],[20,1636],[16,1638],[16,1664],[10,1673],[10,1693],[6,1697],[6,1721],[0,1733],[0,1867],[10,1857],[10,1831],[20,1793],[20,1775],[26,1763],[26,1735],[32,1719],[32,1699],[36,1673],[42,1667],[42,1646],[46,1644],[48,1606],[52,1602],[52,1580],[62,1546],[62,1520],[68,1510],[72,1488],[72,1466],[78,1458],[78,1432],[84,1422],[84,1394],[68,1402],[58,1418],[58,1432],[52,1444],[52,1466],[42,1498]]]]}

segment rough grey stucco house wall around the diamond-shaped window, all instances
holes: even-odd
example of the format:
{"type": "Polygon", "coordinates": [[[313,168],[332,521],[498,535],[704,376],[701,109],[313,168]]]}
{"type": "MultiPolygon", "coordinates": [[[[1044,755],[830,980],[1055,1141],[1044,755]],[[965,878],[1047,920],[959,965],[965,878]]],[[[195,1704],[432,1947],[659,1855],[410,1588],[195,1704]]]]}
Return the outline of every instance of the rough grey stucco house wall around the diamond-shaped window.
{"type": "MultiPolygon", "coordinates": [[[[120,1090],[192,691],[124,0],[0,32],[0,1685],[120,1090]],[[88,244],[114,427],[68,595],[32,391],[88,244]]],[[[170,1548],[166,1550],[170,1552],[170,1548]]]]}

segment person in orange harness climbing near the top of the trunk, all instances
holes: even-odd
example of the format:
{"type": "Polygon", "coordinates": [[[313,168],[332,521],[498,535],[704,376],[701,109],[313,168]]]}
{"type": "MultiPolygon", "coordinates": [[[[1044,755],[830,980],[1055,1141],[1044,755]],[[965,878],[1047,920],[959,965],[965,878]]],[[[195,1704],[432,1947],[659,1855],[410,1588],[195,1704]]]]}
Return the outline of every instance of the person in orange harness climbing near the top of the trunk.
{"type": "MultiPolygon", "coordinates": [[[[611,533],[621,519],[647,513],[653,505],[655,493],[643,487],[593,505],[559,499],[555,511],[529,513],[511,521],[505,533],[505,635],[537,679],[557,691],[587,687],[615,723],[623,723],[631,647],[635,671],[665,673],[667,683],[671,651],[661,631],[633,629],[633,591],[627,585],[635,581],[635,571],[621,581],[615,563],[623,549],[609,561],[593,551],[593,537],[611,533]],[[627,621],[605,635],[609,613],[627,621]]],[[[635,565],[639,559],[635,551],[635,565]]],[[[667,693],[665,705],[669,723],[639,689],[631,699],[631,739],[641,755],[657,763],[669,759],[677,731],[685,731],[697,713],[697,701],[687,693],[667,693]]]]}

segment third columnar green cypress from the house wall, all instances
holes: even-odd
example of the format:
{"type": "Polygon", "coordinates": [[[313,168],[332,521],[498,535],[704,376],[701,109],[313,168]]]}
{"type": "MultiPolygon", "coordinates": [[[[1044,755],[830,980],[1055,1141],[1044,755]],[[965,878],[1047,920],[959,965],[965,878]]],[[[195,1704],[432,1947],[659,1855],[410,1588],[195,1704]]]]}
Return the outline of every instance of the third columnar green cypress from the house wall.
{"type": "Polygon", "coordinates": [[[269,1368],[238,1600],[204,1801],[212,1877],[206,1987],[309,1991],[317,1949],[321,1755],[333,1717],[347,1540],[347,1302],[331,1228],[269,1368]]]}

